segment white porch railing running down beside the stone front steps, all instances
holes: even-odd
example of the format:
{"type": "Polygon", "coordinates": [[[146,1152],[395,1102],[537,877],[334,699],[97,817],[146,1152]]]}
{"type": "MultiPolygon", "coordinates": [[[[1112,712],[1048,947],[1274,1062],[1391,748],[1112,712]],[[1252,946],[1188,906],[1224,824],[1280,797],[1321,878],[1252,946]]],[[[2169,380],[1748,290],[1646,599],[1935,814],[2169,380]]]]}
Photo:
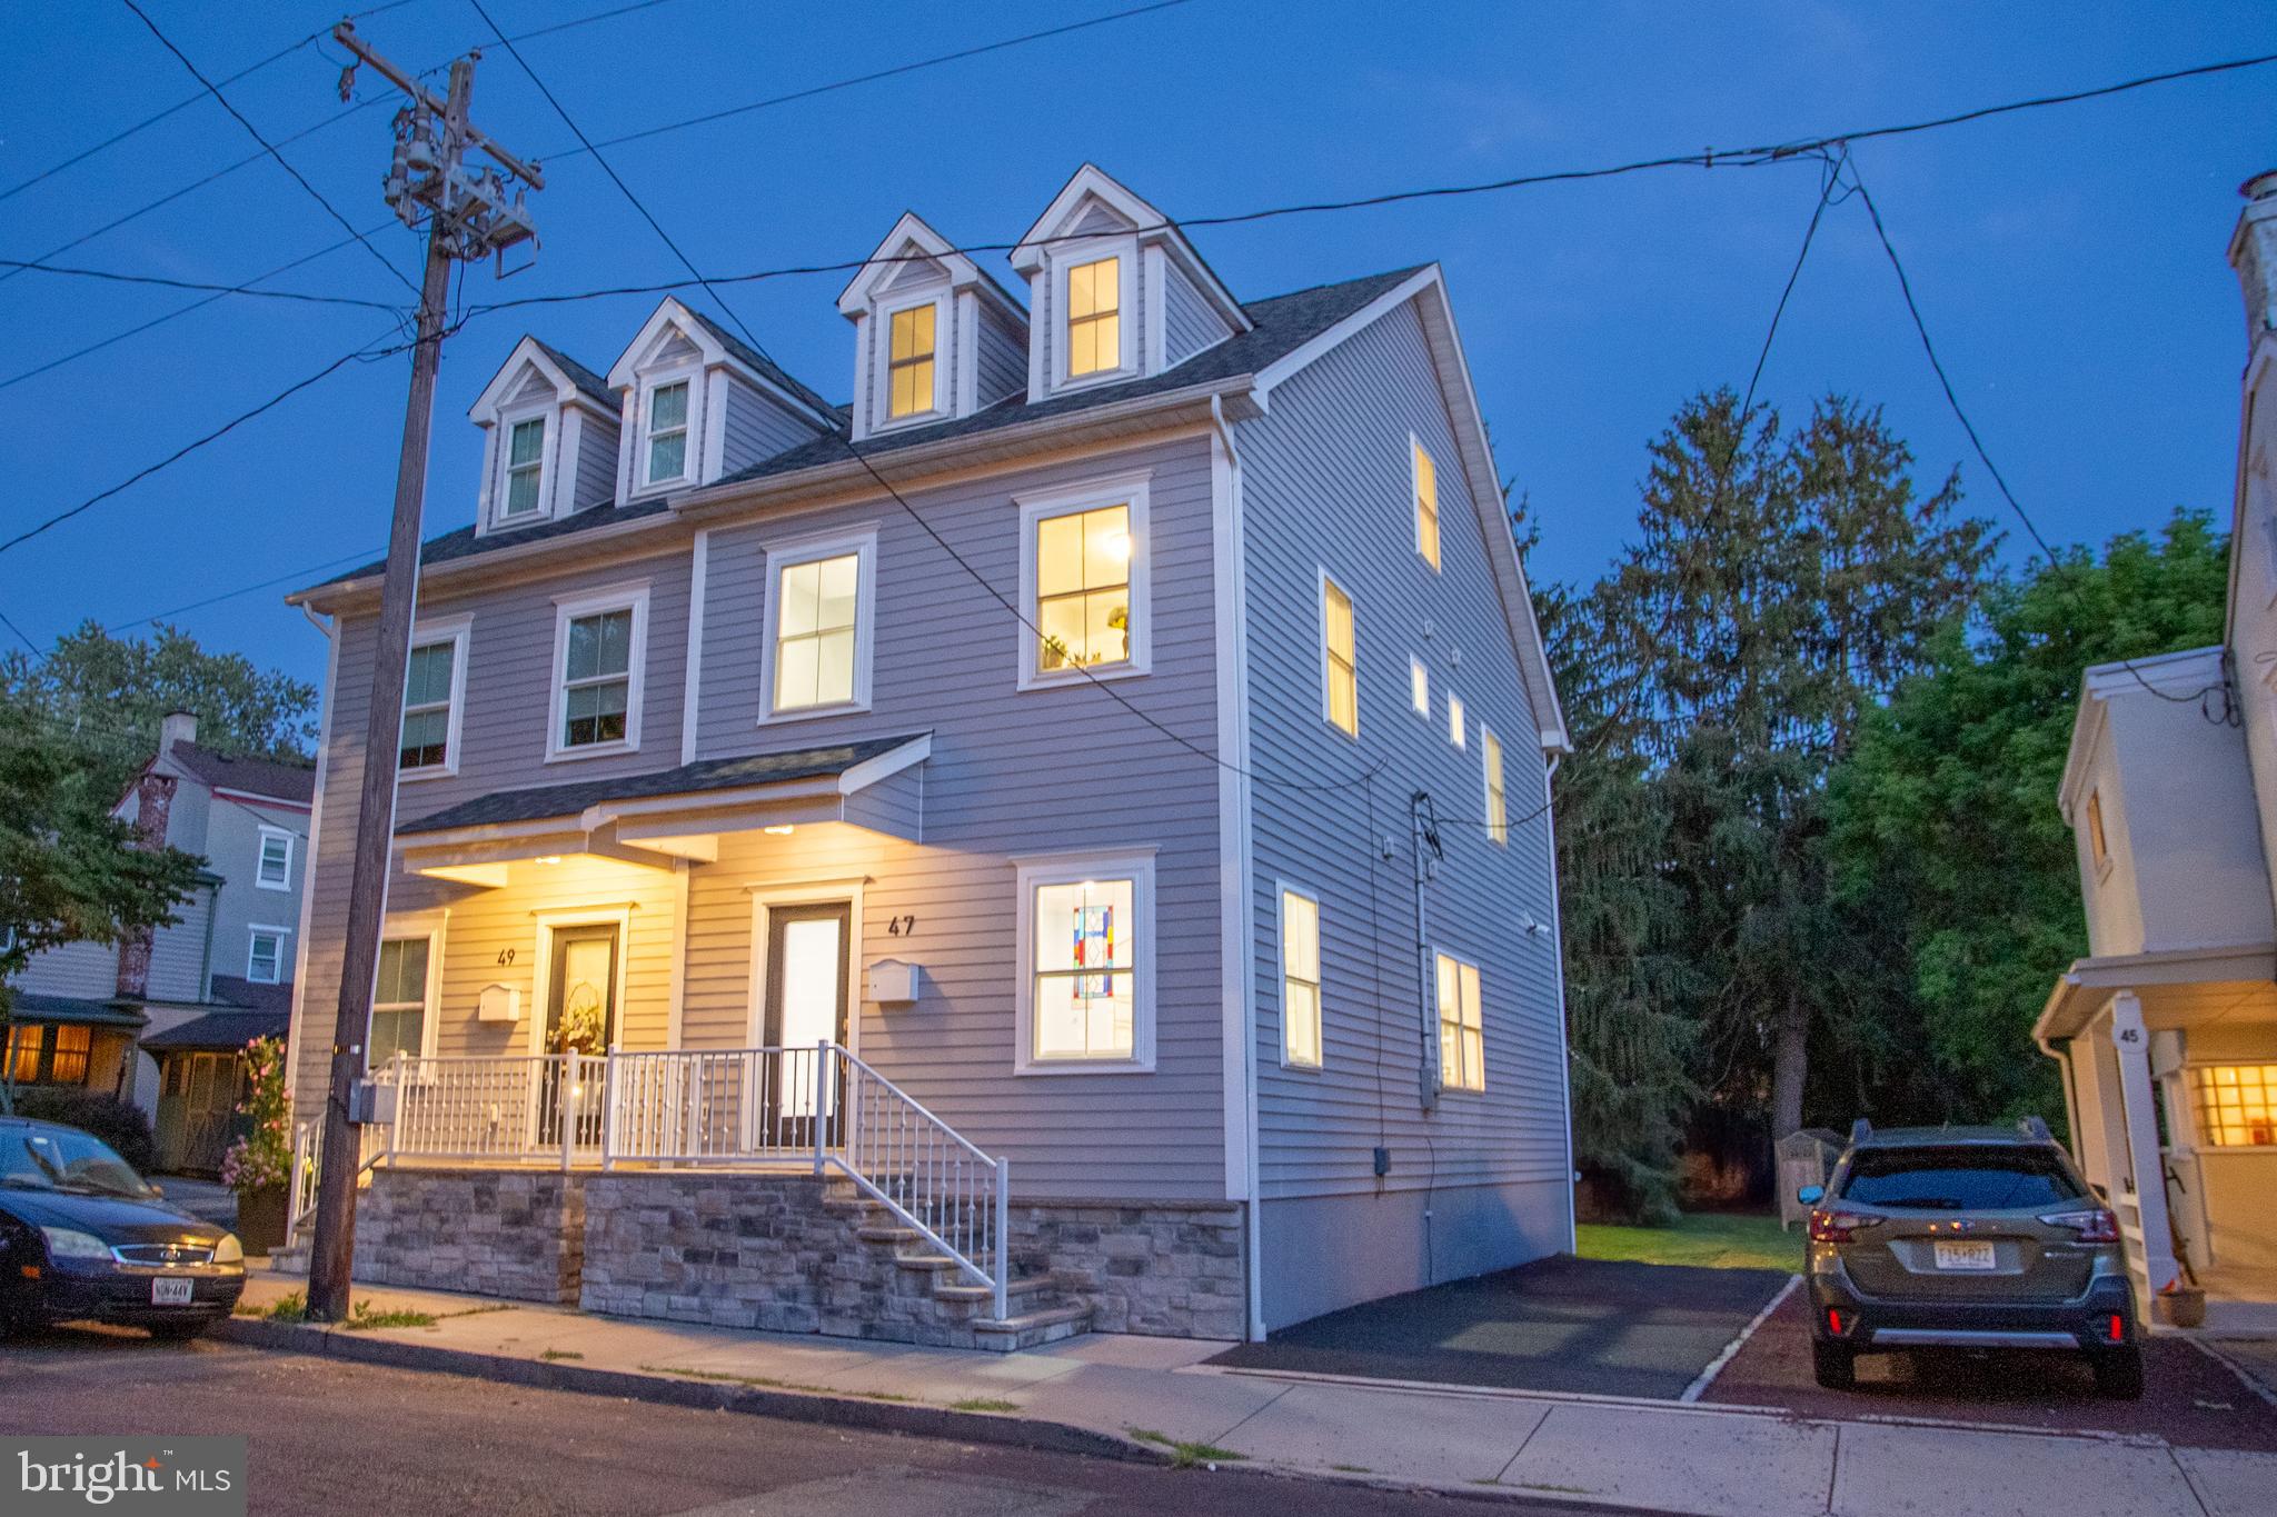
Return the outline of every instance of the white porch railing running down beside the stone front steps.
{"type": "MultiPolygon", "coordinates": [[[[544,1058],[405,1058],[373,1073],[383,1160],[811,1164],[836,1171],[995,1296],[1011,1280],[1009,1162],[838,1044],[544,1058]],[[385,1110],[385,1105],[383,1105],[385,1110]]],[[[376,1139],[376,1142],[373,1142],[376,1139]]],[[[314,1160],[314,1155],[310,1155],[314,1160]]],[[[294,1174],[303,1167],[296,1158],[294,1174]]],[[[314,1176],[314,1162],[307,1164],[314,1176]]],[[[314,1203],[314,1180],[307,1185],[314,1203]]],[[[301,1205],[296,1180],[294,1201],[301,1205]]]]}

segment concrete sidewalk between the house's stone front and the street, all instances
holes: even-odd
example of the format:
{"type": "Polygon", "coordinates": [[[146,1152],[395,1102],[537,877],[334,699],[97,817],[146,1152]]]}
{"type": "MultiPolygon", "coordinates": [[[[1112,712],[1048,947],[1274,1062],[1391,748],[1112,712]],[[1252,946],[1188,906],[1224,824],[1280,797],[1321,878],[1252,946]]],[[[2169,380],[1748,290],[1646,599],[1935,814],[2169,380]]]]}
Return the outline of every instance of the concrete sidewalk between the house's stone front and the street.
{"type": "MultiPolygon", "coordinates": [[[[246,1308],[296,1280],[255,1276],[246,1308]]],[[[815,1415],[920,1435],[1241,1458],[1346,1481],[1510,1492],[1701,1517],[2270,1517],[2277,1456],[2149,1437],[1815,1421],[1514,1390],[1432,1390],[1205,1367],[1225,1344],[1091,1335],[965,1353],[624,1321],[483,1296],[357,1290],[430,1324],[278,1328],[244,1342],[515,1383],[815,1415]],[[708,1392],[706,1392],[708,1387],[708,1392]],[[797,1408],[797,1410],[792,1410],[797,1408]]]]}

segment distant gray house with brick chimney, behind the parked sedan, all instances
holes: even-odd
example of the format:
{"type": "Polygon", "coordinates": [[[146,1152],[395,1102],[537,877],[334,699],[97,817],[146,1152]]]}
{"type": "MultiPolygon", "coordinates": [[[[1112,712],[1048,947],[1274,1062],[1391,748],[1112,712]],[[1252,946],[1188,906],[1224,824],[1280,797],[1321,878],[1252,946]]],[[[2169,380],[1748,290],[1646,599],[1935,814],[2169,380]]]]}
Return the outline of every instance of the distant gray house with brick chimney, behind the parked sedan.
{"type": "Polygon", "coordinates": [[[77,1085],[153,1119],[162,1169],[214,1171],[230,1139],[239,1051],[282,1037],[301,948],[314,771],[198,744],[164,721],[114,814],[207,867],[178,921],[121,946],[64,944],[9,985],[9,1071],[77,1085]]]}

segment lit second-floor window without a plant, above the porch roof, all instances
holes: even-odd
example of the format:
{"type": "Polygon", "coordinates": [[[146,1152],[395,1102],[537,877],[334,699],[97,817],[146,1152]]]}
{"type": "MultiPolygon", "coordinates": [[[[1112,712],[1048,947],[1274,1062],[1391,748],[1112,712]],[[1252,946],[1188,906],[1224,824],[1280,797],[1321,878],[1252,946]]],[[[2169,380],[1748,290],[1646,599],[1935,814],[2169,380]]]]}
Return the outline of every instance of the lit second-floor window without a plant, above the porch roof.
{"type": "Polygon", "coordinates": [[[765,719],[870,705],[877,534],[767,548],[765,719]]]}

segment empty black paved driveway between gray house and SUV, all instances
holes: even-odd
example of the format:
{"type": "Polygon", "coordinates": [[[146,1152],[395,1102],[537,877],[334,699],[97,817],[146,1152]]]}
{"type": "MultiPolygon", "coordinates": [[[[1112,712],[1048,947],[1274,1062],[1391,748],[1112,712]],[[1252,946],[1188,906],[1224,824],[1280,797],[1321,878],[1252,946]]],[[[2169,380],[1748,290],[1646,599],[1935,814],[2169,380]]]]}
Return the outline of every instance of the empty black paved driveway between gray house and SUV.
{"type": "Polygon", "coordinates": [[[1785,1283],[1560,1255],[1314,1317],[1211,1362],[1676,1399],[1785,1283]]]}

